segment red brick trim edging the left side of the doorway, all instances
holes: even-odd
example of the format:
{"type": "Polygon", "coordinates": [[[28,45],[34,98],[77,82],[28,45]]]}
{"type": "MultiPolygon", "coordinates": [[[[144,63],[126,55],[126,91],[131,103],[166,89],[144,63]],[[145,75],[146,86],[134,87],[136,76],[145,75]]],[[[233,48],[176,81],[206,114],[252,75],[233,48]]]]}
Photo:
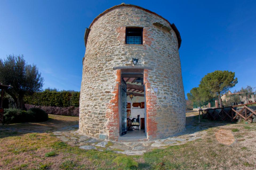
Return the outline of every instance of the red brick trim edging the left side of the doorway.
{"type": "Polygon", "coordinates": [[[107,126],[106,129],[108,131],[108,136],[110,140],[117,141],[119,137],[119,110],[118,110],[118,102],[119,102],[119,84],[121,84],[121,70],[116,70],[116,80],[115,80],[114,91],[109,104],[107,105],[107,126]]]}

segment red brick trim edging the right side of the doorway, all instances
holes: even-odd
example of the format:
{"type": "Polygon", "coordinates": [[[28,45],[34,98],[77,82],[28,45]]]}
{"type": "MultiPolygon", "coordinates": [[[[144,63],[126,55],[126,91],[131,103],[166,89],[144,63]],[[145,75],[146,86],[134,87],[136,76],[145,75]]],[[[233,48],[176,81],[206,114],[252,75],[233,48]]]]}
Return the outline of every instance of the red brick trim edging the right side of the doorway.
{"type": "Polygon", "coordinates": [[[148,80],[149,70],[144,69],[144,86],[146,92],[146,114],[147,114],[147,138],[155,139],[157,137],[157,122],[155,116],[157,115],[156,99],[157,96],[152,92],[151,83],[148,80]]]}

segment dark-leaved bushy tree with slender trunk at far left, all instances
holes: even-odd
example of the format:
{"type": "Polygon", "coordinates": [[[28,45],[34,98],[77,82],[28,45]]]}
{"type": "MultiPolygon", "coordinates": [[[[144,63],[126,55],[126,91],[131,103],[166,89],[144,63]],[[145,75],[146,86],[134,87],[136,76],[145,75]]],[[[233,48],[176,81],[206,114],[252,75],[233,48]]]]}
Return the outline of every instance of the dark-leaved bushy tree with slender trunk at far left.
{"type": "Polygon", "coordinates": [[[32,95],[42,90],[41,73],[36,65],[27,64],[23,55],[9,55],[4,61],[0,59],[0,73],[0,82],[13,86],[6,92],[13,98],[19,109],[26,109],[23,101],[24,95],[32,95]]]}

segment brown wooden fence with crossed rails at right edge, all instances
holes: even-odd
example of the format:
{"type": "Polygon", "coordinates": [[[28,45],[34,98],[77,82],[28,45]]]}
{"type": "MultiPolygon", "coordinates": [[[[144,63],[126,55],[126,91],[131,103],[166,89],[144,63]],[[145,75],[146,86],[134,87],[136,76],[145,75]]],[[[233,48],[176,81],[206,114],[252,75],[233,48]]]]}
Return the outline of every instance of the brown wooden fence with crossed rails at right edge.
{"type": "Polygon", "coordinates": [[[250,109],[247,105],[253,105],[254,103],[247,103],[241,105],[235,105],[230,107],[221,108],[209,108],[199,110],[199,122],[200,113],[202,113],[203,118],[208,118],[209,120],[221,120],[221,121],[234,121],[237,117],[247,120],[252,120],[252,116],[256,116],[256,110],[250,109]],[[243,107],[241,110],[235,110],[237,107],[243,107]]]}

